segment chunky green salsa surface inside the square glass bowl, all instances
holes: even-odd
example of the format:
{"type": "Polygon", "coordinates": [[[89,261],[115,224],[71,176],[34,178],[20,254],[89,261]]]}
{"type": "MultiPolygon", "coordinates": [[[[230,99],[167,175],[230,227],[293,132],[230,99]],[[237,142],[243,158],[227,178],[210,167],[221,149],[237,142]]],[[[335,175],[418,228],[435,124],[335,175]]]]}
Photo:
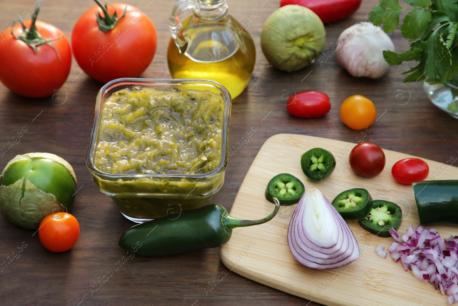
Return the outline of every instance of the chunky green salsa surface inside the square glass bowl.
{"type": "Polygon", "coordinates": [[[94,166],[109,174],[204,174],[221,161],[224,101],[209,90],[126,88],[105,100],[94,166]]]}

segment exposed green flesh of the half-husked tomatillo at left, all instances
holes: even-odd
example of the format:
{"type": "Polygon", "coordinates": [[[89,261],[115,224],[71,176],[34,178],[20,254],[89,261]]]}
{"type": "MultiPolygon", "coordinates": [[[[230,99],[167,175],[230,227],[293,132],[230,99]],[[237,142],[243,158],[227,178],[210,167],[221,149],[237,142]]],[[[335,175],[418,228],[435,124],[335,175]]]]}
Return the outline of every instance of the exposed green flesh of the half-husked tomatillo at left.
{"type": "MultiPolygon", "coordinates": [[[[55,195],[56,200],[70,210],[75,200],[76,182],[64,165],[43,157],[23,155],[27,160],[16,161],[8,166],[0,179],[2,186],[14,184],[26,177],[43,192],[55,195]]],[[[24,192],[24,189],[22,189],[24,192]]]]}

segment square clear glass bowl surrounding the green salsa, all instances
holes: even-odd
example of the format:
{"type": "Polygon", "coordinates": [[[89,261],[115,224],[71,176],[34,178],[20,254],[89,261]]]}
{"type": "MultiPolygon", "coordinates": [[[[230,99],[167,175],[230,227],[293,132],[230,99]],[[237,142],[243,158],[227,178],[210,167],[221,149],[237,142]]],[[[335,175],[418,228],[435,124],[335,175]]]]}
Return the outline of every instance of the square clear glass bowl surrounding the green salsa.
{"type": "Polygon", "coordinates": [[[131,221],[142,223],[170,216],[211,203],[213,195],[224,183],[229,150],[229,117],[231,96],[219,83],[209,80],[119,78],[106,83],[98,92],[91,143],[87,152],[87,168],[97,188],[111,197],[121,213],[131,221]],[[114,92],[130,88],[151,87],[158,90],[210,90],[224,101],[221,161],[204,174],[109,174],[94,166],[98,144],[98,128],[105,100],[114,92]]]}

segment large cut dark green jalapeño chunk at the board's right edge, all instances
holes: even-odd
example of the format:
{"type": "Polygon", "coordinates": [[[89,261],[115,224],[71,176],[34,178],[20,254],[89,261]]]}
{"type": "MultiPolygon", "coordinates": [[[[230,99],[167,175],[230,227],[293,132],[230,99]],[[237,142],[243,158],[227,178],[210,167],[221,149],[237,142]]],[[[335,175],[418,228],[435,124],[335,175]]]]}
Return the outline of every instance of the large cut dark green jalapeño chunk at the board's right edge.
{"type": "Polygon", "coordinates": [[[421,224],[458,224],[458,180],[412,183],[421,224]]]}

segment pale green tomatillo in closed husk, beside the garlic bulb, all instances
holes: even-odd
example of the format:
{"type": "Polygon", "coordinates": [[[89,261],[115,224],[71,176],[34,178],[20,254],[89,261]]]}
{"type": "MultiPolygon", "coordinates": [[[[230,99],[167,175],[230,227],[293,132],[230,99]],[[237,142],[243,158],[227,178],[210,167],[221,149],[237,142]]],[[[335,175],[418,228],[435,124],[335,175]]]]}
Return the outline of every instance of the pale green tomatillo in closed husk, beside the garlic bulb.
{"type": "Polygon", "coordinates": [[[313,11],[298,5],[282,6],[264,23],[262,52],[276,68],[300,70],[315,62],[324,49],[326,31],[313,11]]]}

